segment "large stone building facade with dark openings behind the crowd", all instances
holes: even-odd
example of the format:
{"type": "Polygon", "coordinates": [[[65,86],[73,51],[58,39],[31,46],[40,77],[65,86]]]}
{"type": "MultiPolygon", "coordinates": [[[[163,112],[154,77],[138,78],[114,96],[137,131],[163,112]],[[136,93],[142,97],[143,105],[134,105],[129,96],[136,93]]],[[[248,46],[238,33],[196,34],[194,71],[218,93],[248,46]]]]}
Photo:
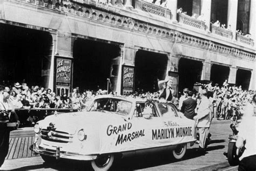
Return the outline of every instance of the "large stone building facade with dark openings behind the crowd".
{"type": "Polygon", "coordinates": [[[253,0],[4,0],[0,80],[58,95],[157,91],[166,75],[176,93],[210,80],[254,90],[255,9],[253,0]]]}

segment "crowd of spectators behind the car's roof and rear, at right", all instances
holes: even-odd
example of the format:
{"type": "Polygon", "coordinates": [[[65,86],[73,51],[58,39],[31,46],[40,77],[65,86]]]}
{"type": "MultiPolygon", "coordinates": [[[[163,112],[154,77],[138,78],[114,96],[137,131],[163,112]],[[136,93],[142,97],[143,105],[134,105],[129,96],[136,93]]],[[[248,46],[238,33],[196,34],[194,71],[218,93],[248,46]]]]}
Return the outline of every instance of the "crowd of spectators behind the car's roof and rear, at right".
{"type": "MultiPolygon", "coordinates": [[[[233,115],[241,116],[246,113],[246,106],[251,105],[252,97],[255,94],[253,90],[243,90],[241,86],[229,85],[227,80],[222,85],[218,83],[212,85],[212,81],[207,84],[195,83],[192,98],[197,100],[200,104],[199,92],[203,89],[207,90],[207,97],[212,102],[214,116],[217,119],[231,119],[233,115]]],[[[189,91],[185,88],[187,92],[189,91]]],[[[144,92],[137,90],[131,97],[144,97],[150,100],[159,99],[159,91],[157,92],[144,92]]],[[[182,102],[187,98],[187,95],[173,96],[172,103],[180,110],[182,102]]]]}

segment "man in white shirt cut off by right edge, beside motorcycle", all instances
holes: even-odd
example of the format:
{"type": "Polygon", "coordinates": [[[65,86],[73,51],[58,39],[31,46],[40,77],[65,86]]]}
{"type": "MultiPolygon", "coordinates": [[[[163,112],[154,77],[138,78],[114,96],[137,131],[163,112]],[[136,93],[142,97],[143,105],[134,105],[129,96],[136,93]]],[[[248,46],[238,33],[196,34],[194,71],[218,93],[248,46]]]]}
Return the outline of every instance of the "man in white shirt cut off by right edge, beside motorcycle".
{"type": "MultiPolygon", "coordinates": [[[[253,96],[254,114],[256,95],[253,96]]],[[[256,170],[256,117],[244,117],[238,127],[238,139],[235,146],[245,146],[245,151],[240,156],[238,170],[256,170]],[[245,141],[245,145],[244,145],[245,141]]]]}

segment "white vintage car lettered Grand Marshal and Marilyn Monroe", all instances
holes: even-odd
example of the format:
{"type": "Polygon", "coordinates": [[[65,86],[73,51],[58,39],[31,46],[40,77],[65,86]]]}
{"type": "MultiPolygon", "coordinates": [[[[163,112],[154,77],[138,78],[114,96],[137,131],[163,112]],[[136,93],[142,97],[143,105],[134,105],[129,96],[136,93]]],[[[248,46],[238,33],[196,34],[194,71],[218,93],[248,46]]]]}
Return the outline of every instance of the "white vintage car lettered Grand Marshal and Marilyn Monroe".
{"type": "Polygon", "coordinates": [[[181,159],[196,141],[196,123],[176,106],[111,96],[95,98],[84,112],[48,116],[34,131],[33,151],[44,161],[90,160],[95,170],[109,169],[117,156],[170,151],[181,159]]]}

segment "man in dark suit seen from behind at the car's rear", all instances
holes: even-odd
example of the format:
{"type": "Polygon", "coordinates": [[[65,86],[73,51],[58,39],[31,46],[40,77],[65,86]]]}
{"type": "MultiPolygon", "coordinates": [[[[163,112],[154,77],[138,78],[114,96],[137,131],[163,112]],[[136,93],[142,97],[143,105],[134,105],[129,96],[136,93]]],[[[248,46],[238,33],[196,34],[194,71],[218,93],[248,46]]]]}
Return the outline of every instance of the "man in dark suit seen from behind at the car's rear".
{"type": "Polygon", "coordinates": [[[192,98],[193,92],[188,91],[188,98],[183,101],[180,111],[184,113],[184,116],[188,119],[192,119],[196,115],[194,109],[197,107],[197,101],[192,98]]]}

